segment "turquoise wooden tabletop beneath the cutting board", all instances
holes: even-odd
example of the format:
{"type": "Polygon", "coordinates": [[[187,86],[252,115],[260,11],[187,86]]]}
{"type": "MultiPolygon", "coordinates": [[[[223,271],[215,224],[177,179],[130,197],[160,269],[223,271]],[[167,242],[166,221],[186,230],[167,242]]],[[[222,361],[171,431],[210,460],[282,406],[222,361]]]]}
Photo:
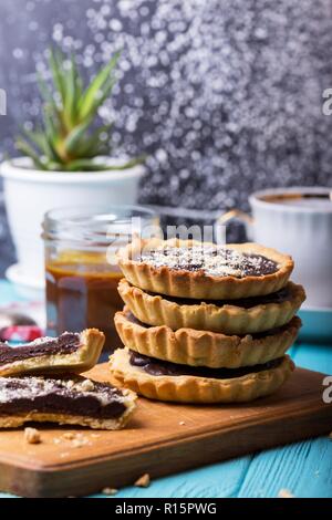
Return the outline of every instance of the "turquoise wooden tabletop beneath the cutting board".
{"type": "MultiPolygon", "coordinates": [[[[12,285],[0,281],[0,305],[21,300],[12,285]]],[[[299,366],[332,374],[332,340],[326,345],[295,344],[291,355],[299,366]]],[[[146,489],[124,488],[116,497],[262,498],[277,497],[280,489],[300,498],[331,498],[332,439],[321,437],[205,466],[155,480],[146,489]]]]}

